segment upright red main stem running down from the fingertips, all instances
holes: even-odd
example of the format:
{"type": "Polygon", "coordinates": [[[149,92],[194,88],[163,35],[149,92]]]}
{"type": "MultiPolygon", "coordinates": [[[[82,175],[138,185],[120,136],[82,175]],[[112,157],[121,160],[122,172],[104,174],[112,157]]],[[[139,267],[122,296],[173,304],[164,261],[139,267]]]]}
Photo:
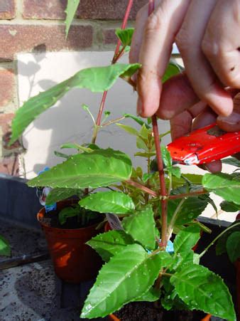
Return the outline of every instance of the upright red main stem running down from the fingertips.
{"type": "Polygon", "coordinates": [[[159,174],[159,181],[160,181],[160,196],[162,196],[161,202],[161,243],[163,248],[167,246],[168,242],[168,201],[166,199],[167,191],[165,186],[165,178],[164,178],[164,169],[163,169],[163,159],[160,152],[160,140],[159,140],[159,132],[158,132],[158,122],[156,115],[152,117],[153,123],[153,135],[154,135],[154,142],[156,147],[156,157],[158,163],[158,174],[159,174]]]}

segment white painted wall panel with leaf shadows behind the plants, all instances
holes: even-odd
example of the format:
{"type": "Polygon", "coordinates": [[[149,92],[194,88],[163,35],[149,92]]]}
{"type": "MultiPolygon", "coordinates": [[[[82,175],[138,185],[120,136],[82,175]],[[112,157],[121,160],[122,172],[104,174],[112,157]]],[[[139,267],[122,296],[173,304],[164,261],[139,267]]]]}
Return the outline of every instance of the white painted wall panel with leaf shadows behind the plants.
{"type": "MultiPolygon", "coordinates": [[[[109,65],[112,56],[112,52],[25,53],[18,55],[18,95],[21,105],[31,96],[60,83],[82,68],[109,65]]],[[[127,57],[124,57],[122,62],[127,62],[127,57]]],[[[35,177],[43,167],[52,167],[62,162],[62,158],[54,155],[55,150],[60,151],[61,144],[90,142],[92,120],[82,110],[81,105],[82,103],[89,105],[92,114],[97,117],[101,98],[102,94],[93,94],[89,90],[72,90],[28,126],[23,134],[23,146],[26,148],[23,163],[28,179],[35,177]]],[[[106,110],[111,111],[111,119],[121,117],[124,112],[136,114],[136,93],[133,93],[132,88],[124,80],[118,80],[109,90],[106,110]]],[[[124,120],[124,124],[139,128],[133,120],[124,120]]],[[[168,122],[159,120],[159,130],[160,132],[169,130],[168,122]]],[[[163,140],[163,143],[168,144],[169,141],[170,137],[168,136],[163,140]]],[[[120,149],[129,154],[132,159],[133,154],[137,151],[135,137],[126,134],[116,125],[102,130],[99,133],[97,144],[103,148],[120,149]]],[[[71,151],[63,149],[62,152],[71,151]]],[[[23,163],[21,164],[22,174],[23,163]]],[[[133,164],[146,168],[145,161],[140,157],[136,157],[133,164]]],[[[204,171],[197,167],[182,167],[182,170],[183,172],[204,174],[204,171]]],[[[231,172],[232,168],[224,166],[224,170],[231,172]]],[[[216,196],[215,201],[219,204],[221,199],[216,196]]],[[[203,215],[214,216],[214,210],[208,206],[203,215]]],[[[236,214],[220,213],[219,219],[234,221],[235,216],[236,214]]]]}

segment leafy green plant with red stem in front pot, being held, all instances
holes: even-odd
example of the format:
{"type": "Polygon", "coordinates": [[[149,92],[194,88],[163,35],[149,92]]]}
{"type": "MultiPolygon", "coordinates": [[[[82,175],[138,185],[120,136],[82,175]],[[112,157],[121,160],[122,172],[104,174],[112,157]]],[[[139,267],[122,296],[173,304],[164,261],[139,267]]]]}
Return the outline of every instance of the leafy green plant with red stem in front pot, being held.
{"type": "MultiPolygon", "coordinates": [[[[102,121],[107,90],[119,77],[134,87],[131,76],[141,68],[137,63],[116,63],[131,44],[133,31],[124,30],[131,4],[129,1],[122,29],[116,31],[119,43],[112,64],[80,70],[25,102],[13,120],[11,143],[71,88],[103,92],[97,120],[94,120],[92,142],[72,144],[77,154],[67,156],[65,162],[28,182],[29,186],[50,186],[53,191],[63,189],[67,196],[82,189],[84,197],[79,201],[80,206],[121,219],[117,230],[100,233],[88,241],[106,263],[90,290],[81,316],[104,317],[129,302],[144,301],[154,302],[158,314],[165,313],[160,312],[161,306],[165,310],[202,310],[236,320],[227,285],[219,275],[200,264],[200,258],[212,243],[200,254],[192,248],[202,231],[209,232],[197,221],[207,204],[214,206],[209,192],[239,206],[239,173],[181,174],[180,168],[173,165],[168,149],[160,147],[161,135],[155,116],[147,122],[129,114],[119,117],[136,120],[141,126],[139,130],[119,124],[119,120],[102,121]],[[146,157],[146,172],[139,167],[134,169],[131,159],[123,152],[101,149],[95,144],[99,130],[114,123],[136,136],[137,147],[141,149],[136,157],[146,157]],[[152,170],[154,157],[156,172],[152,170]],[[99,187],[108,190],[99,191],[99,187]]],[[[178,66],[170,63],[164,80],[178,72],[178,66]]],[[[89,112],[88,107],[84,108],[89,112]]],[[[108,112],[106,116],[109,116],[108,112]]],[[[64,195],[61,197],[67,198],[64,195]]],[[[239,223],[235,223],[234,228],[237,226],[239,223]]]]}

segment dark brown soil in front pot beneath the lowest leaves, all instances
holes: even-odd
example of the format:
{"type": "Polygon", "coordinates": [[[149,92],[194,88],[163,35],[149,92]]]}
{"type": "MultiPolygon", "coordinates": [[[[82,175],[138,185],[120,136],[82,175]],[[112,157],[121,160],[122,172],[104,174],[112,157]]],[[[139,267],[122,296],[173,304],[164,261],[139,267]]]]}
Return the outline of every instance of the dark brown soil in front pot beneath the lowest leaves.
{"type": "Polygon", "coordinates": [[[205,316],[200,311],[166,311],[152,302],[131,302],[114,315],[121,321],[200,321],[205,316]]]}

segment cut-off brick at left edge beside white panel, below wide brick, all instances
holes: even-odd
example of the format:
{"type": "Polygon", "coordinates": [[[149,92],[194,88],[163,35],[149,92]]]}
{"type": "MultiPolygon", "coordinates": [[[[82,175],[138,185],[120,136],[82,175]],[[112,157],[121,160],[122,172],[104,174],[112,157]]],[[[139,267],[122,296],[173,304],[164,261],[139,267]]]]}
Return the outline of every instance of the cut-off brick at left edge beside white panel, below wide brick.
{"type": "Polygon", "coordinates": [[[13,70],[0,70],[0,109],[13,101],[14,85],[13,70]]]}

